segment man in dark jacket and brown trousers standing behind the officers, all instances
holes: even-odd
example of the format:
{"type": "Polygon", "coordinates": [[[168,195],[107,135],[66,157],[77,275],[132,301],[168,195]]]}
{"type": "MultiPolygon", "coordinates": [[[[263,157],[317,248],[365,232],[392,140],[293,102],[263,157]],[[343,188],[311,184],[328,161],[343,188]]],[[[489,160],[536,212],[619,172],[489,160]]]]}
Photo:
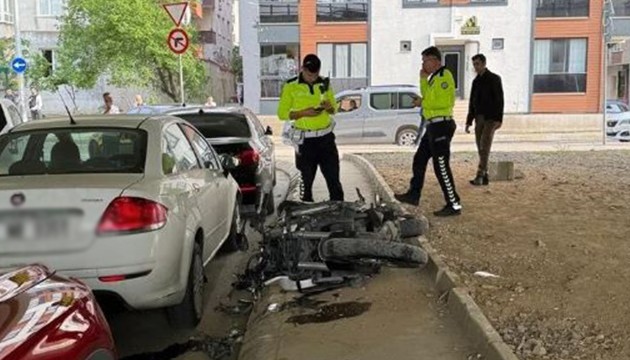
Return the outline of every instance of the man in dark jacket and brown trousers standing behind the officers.
{"type": "Polygon", "coordinates": [[[470,183],[475,186],[488,185],[488,159],[494,132],[503,123],[503,85],[501,77],[486,67],[486,57],[477,54],[472,57],[473,67],[477,76],[473,80],[470,90],[468,116],[466,117],[466,132],[475,121],[475,140],[479,154],[477,175],[470,183]]]}

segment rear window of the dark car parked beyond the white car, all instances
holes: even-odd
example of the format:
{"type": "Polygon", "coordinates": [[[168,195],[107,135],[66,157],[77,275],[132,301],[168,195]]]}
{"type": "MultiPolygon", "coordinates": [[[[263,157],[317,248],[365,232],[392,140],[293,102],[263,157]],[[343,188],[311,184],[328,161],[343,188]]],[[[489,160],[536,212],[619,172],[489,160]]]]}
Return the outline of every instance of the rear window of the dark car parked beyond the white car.
{"type": "Polygon", "coordinates": [[[208,139],[220,137],[251,137],[247,117],[238,113],[195,113],[176,115],[195,127],[208,139]]]}

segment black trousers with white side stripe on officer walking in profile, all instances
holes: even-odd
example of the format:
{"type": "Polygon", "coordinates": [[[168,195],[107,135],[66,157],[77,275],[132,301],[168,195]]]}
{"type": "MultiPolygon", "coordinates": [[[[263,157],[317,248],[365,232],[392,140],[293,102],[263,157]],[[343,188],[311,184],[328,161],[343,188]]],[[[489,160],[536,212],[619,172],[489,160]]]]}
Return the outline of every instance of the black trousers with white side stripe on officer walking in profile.
{"type": "Polygon", "coordinates": [[[440,183],[444,200],[455,209],[460,208],[459,195],[455,191],[455,181],[451,172],[451,140],[457,125],[454,120],[428,122],[427,131],[420,140],[420,146],[413,157],[413,177],[409,191],[420,198],[424,186],[424,176],[429,159],[433,158],[433,170],[440,183]]]}

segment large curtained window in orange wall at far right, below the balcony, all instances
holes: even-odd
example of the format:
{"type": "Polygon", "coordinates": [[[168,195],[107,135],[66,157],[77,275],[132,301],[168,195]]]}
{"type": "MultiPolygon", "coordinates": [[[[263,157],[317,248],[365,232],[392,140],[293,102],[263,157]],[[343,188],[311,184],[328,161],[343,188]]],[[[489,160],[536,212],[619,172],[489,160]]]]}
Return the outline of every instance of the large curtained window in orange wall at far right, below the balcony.
{"type": "Polygon", "coordinates": [[[586,39],[545,39],[534,44],[534,92],[586,92],[586,39]]]}

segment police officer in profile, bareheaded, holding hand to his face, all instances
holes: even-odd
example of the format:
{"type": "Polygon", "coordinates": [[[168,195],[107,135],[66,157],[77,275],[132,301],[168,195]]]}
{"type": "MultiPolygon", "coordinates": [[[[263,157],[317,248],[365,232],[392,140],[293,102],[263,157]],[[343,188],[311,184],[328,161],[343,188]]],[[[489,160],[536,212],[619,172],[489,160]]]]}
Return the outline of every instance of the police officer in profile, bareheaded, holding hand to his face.
{"type": "Polygon", "coordinates": [[[422,106],[422,117],[427,124],[426,131],[413,158],[413,176],[409,182],[409,190],[404,194],[395,194],[395,198],[400,202],[418,206],[427,164],[432,158],[435,176],[446,200],[446,206],[433,214],[459,215],[462,206],[455,190],[450,166],[451,140],[457,128],[453,120],[455,81],[451,72],[442,66],[442,54],[435,46],[422,51],[420,91],[422,97],[416,98],[414,104],[422,106]]]}

